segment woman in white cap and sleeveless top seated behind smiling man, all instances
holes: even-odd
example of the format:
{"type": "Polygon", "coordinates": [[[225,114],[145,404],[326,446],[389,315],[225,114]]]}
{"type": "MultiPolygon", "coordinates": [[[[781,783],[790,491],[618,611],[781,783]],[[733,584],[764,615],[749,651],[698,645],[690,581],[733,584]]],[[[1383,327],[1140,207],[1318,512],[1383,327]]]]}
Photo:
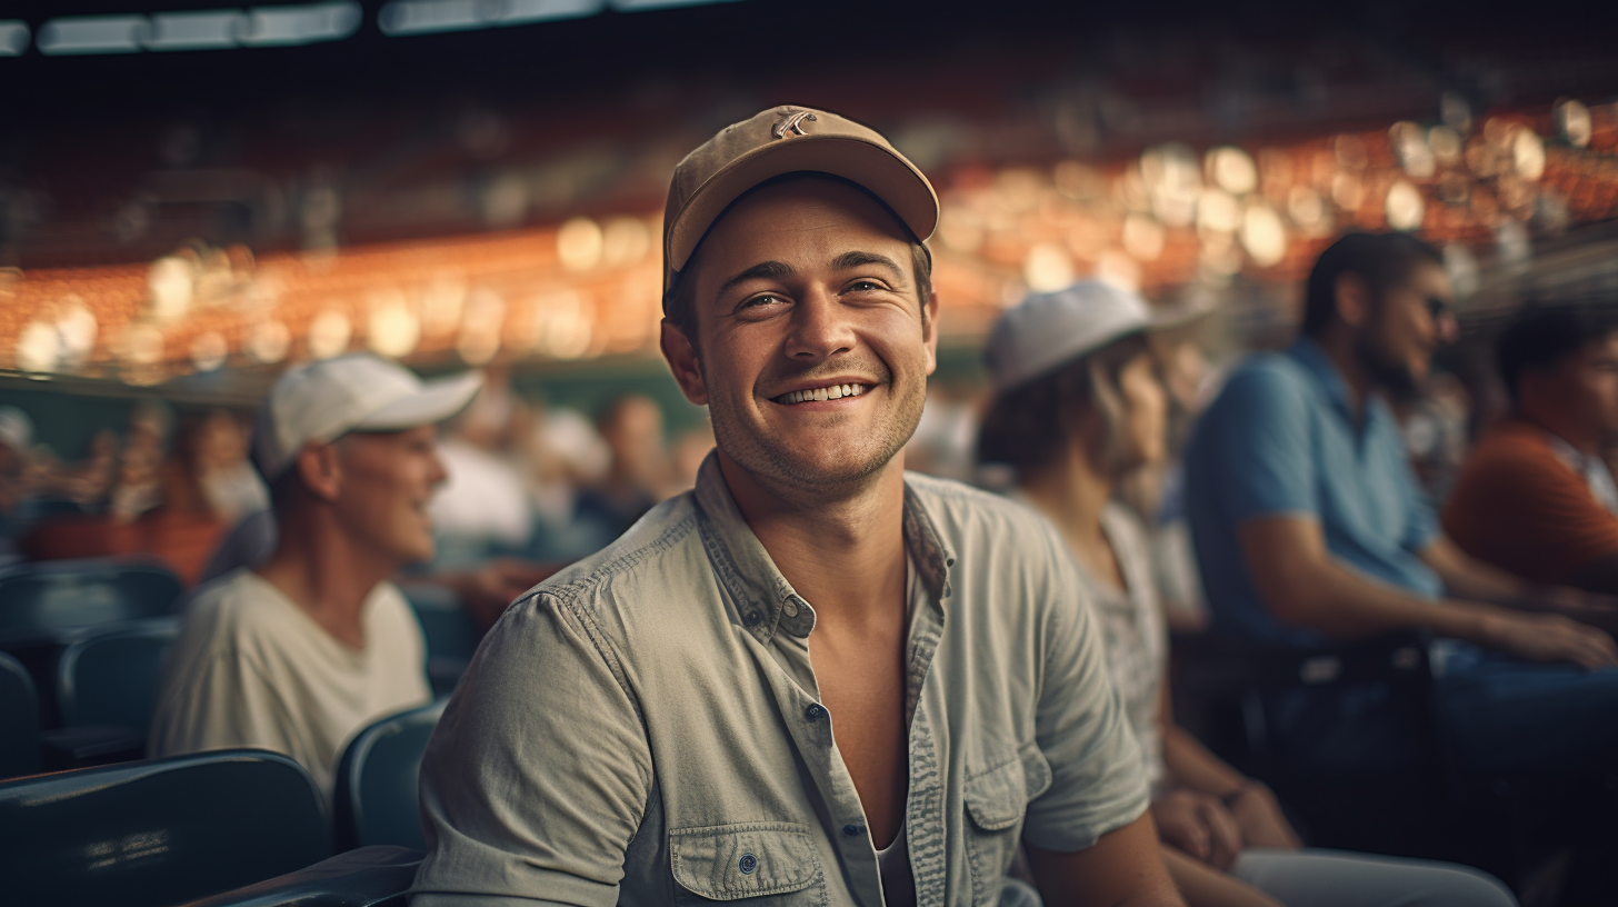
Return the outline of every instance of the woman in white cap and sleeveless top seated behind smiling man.
{"type": "Polygon", "coordinates": [[[1006,309],[984,353],[995,398],[977,454],[1013,470],[1013,496],[1057,526],[1089,586],[1175,884],[1189,907],[1514,905],[1503,884],[1468,867],[1301,849],[1264,784],[1175,724],[1147,533],[1112,499],[1165,449],[1152,329],[1141,296],[1099,280],[1006,309]]]}

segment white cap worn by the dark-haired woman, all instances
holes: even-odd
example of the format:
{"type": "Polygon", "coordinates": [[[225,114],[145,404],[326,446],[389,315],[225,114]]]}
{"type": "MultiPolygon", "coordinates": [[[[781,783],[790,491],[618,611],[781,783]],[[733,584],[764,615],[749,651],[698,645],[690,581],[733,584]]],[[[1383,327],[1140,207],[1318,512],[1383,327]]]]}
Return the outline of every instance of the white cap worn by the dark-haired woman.
{"type": "Polygon", "coordinates": [[[984,347],[995,394],[1005,394],[1113,340],[1154,326],[1146,300],[1103,280],[1032,293],[1000,313],[984,347]]]}

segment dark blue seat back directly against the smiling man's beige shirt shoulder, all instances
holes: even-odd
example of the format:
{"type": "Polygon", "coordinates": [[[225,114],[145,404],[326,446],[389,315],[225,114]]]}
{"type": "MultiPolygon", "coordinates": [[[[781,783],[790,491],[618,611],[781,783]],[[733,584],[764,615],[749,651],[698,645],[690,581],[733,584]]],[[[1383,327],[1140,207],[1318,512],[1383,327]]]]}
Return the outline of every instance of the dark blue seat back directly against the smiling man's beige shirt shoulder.
{"type": "Polygon", "coordinates": [[[443,701],[403,711],[361,730],[337,764],[337,849],[426,847],[416,781],[443,701]]]}

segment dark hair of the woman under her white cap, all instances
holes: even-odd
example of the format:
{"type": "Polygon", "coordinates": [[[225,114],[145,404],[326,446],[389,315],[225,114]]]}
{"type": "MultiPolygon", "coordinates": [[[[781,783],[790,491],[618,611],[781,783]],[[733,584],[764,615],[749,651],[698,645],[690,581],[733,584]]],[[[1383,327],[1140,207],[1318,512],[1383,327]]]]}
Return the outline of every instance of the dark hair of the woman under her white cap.
{"type": "Polygon", "coordinates": [[[1149,350],[1144,334],[1129,334],[995,397],[977,429],[977,462],[1005,463],[1018,476],[1048,466],[1069,444],[1081,408],[1107,421],[1107,449],[1097,454],[1115,460],[1125,441],[1118,376],[1149,350]]]}

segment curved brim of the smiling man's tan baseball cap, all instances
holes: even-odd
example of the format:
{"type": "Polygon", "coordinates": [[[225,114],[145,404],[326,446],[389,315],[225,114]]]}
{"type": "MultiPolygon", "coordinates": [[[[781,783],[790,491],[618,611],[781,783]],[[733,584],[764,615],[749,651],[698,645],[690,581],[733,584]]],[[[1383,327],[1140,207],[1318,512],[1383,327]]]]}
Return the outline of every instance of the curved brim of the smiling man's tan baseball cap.
{"type": "Polygon", "coordinates": [[[765,144],[709,177],[675,215],[668,269],[681,270],[714,220],[748,189],[785,173],[815,172],[858,183],[882,199],[917,240],[938,225],[938,196],[927,178],[895,152],[854,136],[799,136],[765,144]]]}

